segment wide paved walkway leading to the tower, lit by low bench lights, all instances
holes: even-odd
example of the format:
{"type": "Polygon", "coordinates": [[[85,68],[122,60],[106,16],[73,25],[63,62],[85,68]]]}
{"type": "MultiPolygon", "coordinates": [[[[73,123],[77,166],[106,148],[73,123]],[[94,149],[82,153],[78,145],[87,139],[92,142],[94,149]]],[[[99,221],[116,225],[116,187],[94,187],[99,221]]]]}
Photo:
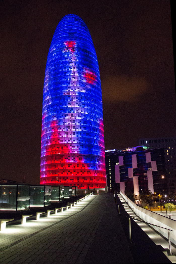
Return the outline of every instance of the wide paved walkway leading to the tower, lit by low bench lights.
{"type": "Polygon", "coordinates": [[[0,233],[2,264],[134,263],[113,194],[91,195],[64,213],[0,233]]]}

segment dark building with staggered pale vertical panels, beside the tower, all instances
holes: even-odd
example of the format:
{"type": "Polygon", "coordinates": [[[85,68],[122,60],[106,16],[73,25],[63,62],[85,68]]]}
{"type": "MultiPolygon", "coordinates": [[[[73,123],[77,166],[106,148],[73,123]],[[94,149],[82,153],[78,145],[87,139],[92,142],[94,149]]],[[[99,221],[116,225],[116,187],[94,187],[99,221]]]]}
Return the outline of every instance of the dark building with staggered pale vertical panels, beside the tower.
{"type": "Polygon", "coordinates": [[[140,146],[121,150],[105,150],[109,189],[134,192],[150,190],[167,192],[164,149],[140,146]]]}

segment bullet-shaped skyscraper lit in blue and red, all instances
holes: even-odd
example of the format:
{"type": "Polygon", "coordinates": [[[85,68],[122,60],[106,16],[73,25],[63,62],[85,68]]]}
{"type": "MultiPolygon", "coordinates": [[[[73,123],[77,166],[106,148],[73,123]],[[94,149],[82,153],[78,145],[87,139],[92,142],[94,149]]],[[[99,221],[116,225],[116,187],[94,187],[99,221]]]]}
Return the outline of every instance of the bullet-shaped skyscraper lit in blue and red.
{"type": "Polygon", "coordinates": [[[48,53],[42,112],[41,184],[104,188],[102,92],[84,21],[66,15],[48,53]]]}

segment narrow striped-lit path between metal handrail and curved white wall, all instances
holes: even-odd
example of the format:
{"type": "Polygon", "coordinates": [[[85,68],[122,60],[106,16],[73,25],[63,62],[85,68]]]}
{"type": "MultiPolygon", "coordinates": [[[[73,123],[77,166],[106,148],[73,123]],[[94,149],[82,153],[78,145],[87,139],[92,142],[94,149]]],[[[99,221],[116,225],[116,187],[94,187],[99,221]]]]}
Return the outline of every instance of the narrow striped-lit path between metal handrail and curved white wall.
{"type": "MultiPolygon", "coordinates": [[[[123,207],[125,208],[125,211],[131,216],[134,217],[134,211],[129,207],[127,202],[123,199],[123,197],[118,194],[118,197],[120,198],[123,207]]],[[[142,220],[135,214],[135,218],[142,220]]],[[[160,235],[157,231],[155,231],[153,228],[151,228],[148,224],[139,222],[137,220],[134,220],[141,228],[144,230],[144,232],[153,240],[153,242],[156,245],[161,245],[163,248],[167,248],[169,250],[169,243],[166,238],[164,238],[162,235],[160,235]]],[[[171,245],[172,253],[176,255],[176,246],[172,243],[171,245]]],[[[175,263],[175,262],[173,262],[175,263]]]]}

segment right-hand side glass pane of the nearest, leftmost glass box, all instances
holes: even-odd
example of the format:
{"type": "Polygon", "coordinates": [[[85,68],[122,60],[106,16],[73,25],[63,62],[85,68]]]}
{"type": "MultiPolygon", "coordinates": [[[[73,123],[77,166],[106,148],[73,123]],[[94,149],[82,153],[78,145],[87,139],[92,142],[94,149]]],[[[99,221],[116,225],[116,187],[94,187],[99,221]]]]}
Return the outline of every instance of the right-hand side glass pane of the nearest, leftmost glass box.
{"type": "Polygon", "coordinates": [[[30,207],[30,186],[18,185],[17,210],[29,209],[30,207]]]}

